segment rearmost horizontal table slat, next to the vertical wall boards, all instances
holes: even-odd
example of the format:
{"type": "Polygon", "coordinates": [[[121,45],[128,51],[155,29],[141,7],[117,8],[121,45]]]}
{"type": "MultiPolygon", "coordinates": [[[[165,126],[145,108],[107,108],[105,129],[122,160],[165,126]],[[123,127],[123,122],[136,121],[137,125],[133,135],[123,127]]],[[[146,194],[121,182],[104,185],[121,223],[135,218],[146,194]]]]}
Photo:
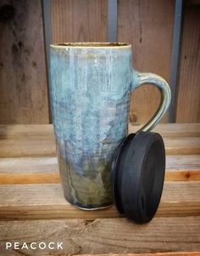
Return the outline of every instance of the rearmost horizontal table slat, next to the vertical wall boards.
{"type": "MultiPolygon", "coordinates": [[[[129,125],[129,133],[135,133],[142,125],[129,125]]],[[[170,137],[200,137],[200,123],[160,123],[153,132],[170,137]]],[[[0,139],[48,139],[53,138],[52,124],[0,125],[0,139]]]]}

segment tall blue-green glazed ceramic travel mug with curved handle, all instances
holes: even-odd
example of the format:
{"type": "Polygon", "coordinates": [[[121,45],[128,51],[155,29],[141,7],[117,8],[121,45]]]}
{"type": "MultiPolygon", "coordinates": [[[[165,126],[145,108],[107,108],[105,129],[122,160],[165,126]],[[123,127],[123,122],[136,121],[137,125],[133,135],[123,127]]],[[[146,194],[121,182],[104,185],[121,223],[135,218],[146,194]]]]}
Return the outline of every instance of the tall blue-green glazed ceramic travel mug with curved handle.
{"type": "Polygon", "coordinates": [[[164,116],[170,89],[162,77],[132,68],[131,44],[63,43],[50,49],[50,94],[64,196],[78,208],[113,204],[111,164],[128,134],[131,93],[155,85],[161,102],[142,128],[164,116]]]}

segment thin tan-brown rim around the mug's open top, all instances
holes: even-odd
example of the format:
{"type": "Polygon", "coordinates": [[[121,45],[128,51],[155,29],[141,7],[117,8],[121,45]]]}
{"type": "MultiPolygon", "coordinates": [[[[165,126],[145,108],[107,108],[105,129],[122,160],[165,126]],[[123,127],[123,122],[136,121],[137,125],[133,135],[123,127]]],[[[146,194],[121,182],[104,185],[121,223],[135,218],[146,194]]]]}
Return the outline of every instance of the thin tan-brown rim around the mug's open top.
{"type": "Polygon", "coordinates": [[[118,42],[73,42],[52,43],[52,48],[131,48],[131,43],[118,42]]]}

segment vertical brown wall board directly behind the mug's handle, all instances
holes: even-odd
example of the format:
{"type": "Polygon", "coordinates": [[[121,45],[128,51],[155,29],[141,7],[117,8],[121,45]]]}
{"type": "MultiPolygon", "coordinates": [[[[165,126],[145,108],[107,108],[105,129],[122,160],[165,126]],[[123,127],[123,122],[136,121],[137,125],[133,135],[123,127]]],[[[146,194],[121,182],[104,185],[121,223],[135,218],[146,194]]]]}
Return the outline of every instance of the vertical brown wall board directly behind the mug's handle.
{"type": "MultiPolygon", "coordinates": [[[[133,66],[154,72],[169,81],[175,1],[119,0],[118,41],[133,48],[133,66]]],[[[131,122],[144,123],[158,108],[159,94],[144,86],[132,95],[131,122]]],[[[163,122],[167,122],[165,116],[163,122]]]]}

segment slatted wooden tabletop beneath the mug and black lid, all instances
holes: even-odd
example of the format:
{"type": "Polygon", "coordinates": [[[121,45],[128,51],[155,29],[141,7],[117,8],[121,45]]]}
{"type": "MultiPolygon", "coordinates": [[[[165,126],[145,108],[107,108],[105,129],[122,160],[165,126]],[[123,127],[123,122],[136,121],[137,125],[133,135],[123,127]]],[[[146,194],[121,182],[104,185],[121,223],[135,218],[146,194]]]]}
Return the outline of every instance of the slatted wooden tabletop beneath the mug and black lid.
{"type": "Polygon", "coordinates": [[[200,124],[154,131],[167,153],[164,192],[155,218],[136,225],[114,207],[82,211],[64,200],[52,125],[0,125],[0,256],[200,255],[200,124]],[[5,250],[8,241],[63,241],[64,250],[5,250]]]}

